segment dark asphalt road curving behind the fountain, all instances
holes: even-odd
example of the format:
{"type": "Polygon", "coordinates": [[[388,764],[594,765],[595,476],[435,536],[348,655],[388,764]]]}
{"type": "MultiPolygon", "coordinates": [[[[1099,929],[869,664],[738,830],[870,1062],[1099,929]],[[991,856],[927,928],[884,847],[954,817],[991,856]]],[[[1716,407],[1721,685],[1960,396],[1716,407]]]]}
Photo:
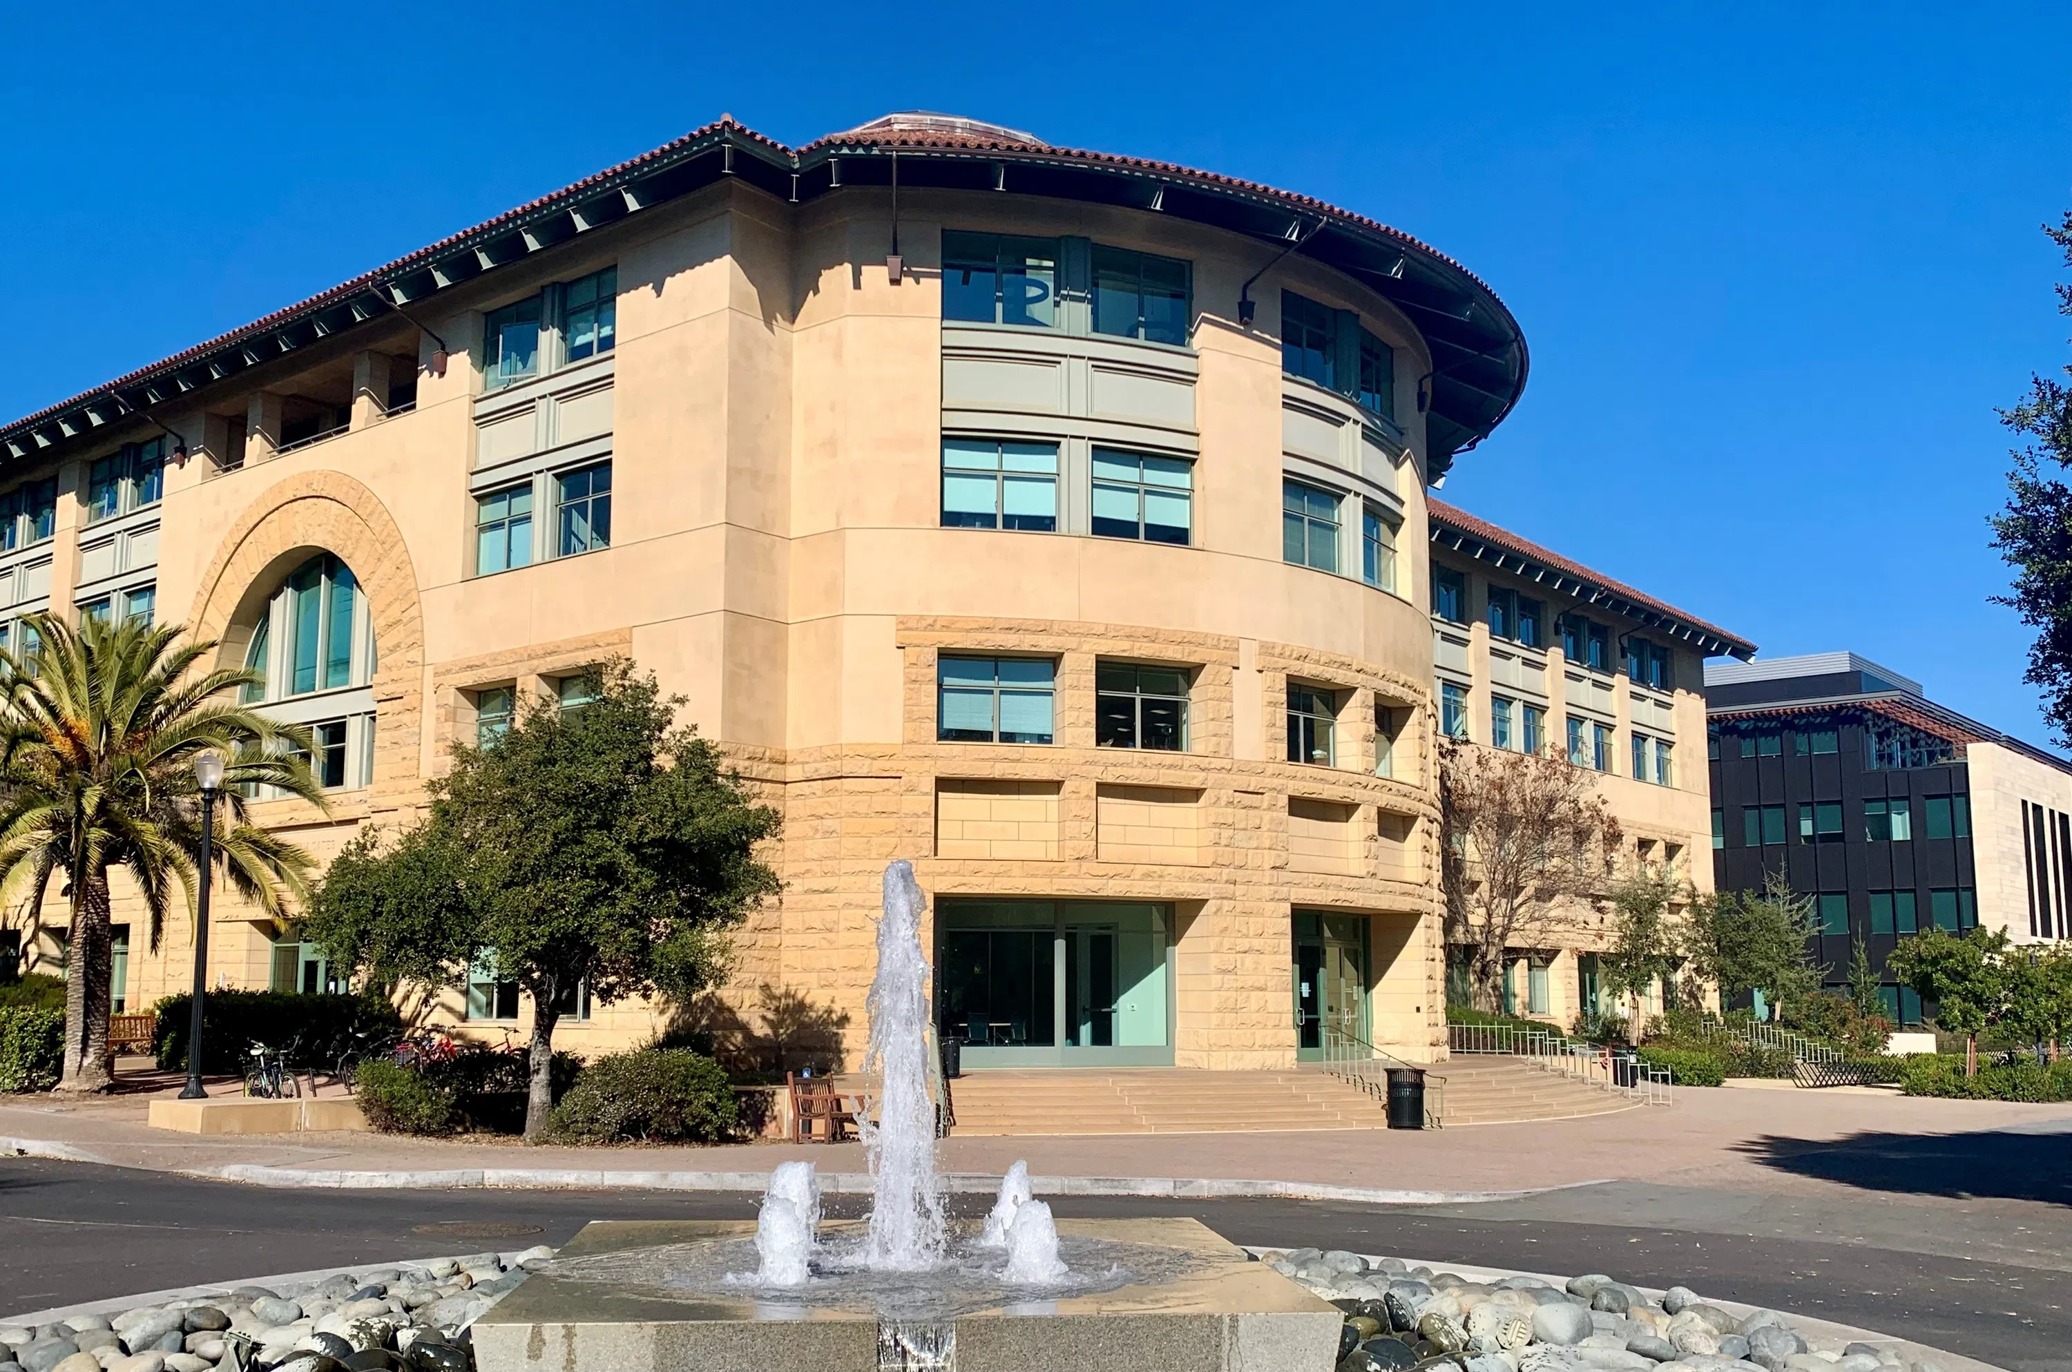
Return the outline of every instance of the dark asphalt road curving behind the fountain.
{"type": "MultiPolygon", "coordinates": [[[[982,1210],[976,1196],[959,1210],[982,1210]]],[[[1890,1204],[1879,1200],[1877,1204],[1890,1204]]],[[[2062,1270],[1883,1246],[1295,1200],[1057,1198],[1071,1217],[1191,1214],[1237,1244],[1316,1244],[1548,1273],[1606,1270],[1803,1310],[2020,1372],[2072,1372],[2062,1270]]],[[[854,1214],[858,1198],[833,1198],[854,1214]]],[[[315,1266],[559,1244],[591,1219],[744,1219],[752,1196],[682,1192],[282,1192],[0,1161],[0,1306],[35,1310],[315,1266]]],[[[1888,1217],[1890,1221],[1890,1217],[1888,1217]]],[[[1726,1225],[1718,1225],[1726,1227],[1726,1225]]]]}

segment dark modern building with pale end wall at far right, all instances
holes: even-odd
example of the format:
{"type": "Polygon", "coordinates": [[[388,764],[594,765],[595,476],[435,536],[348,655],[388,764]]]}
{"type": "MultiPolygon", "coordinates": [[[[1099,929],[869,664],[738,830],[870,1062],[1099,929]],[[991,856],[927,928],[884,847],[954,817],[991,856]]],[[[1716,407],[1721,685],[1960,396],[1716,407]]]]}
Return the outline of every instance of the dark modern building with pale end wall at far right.
{"type": "MultiPolygon", "coordinates": [[[[1714,883],[1782,873],[1819,914],[1842,987],[1857,937],[1879,970],[1923,928],[2064,939],[2072,763],[1935,705],[1854,653],[1705,663],[1714,883]]],[[[1921,1022],[1910,989],[1888,1011],[1921,1022]]]]}

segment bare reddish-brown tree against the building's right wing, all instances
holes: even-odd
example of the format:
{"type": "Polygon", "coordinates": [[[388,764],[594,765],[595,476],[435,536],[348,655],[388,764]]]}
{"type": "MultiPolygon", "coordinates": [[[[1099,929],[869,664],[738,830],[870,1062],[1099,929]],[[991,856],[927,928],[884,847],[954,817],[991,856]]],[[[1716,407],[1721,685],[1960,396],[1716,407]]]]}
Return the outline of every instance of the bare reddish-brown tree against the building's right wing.
{"type": "Polygon", "coordinates": [[[1504,949],[1564,931],[1612,881],[1620,829],[1598,777],[1560,756],[1442,740],[1446,943],[1467,947],[1475,1009],[1502,1009],[1504,949]]]}

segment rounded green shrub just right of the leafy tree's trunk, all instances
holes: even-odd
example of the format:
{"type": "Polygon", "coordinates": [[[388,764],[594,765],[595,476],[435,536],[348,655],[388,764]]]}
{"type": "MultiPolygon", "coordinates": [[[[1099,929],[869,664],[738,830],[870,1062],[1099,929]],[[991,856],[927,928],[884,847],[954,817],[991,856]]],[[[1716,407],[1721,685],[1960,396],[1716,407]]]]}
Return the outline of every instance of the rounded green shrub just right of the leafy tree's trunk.
{"type": "Polygon", "coordinates": [[[553,1113],[553,1134],[584,1144],[711,1144],[738,1123],[727,1074],[690,1049],[599,1057],[553,1113]]]}

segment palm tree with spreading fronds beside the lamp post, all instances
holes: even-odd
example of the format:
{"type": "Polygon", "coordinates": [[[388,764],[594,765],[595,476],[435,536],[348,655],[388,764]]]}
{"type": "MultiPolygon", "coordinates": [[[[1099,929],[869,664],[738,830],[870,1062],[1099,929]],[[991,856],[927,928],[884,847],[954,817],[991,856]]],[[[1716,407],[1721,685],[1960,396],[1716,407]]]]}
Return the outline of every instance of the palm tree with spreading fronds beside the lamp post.
{"type": "Polygon", "coordinates": [[[249,819],[242,788],[269,785],[323,806],[303,754],[309,732],[238,703],[251,671],[207,669],[213,640],[184,628],[31,616],[23,653],[0,653],[0,889],[27,889],[39,910],[52,873],[70,904],[64,987],[64,1080],[106,1090],[110,924],[108,873],[124,868],[143,897],[157,949],[178,883],[195,908],[201,788],[195,754],[224,754],[215,862],[230,887],[280,918],[307,891],[313,858],[249,819]]]}

